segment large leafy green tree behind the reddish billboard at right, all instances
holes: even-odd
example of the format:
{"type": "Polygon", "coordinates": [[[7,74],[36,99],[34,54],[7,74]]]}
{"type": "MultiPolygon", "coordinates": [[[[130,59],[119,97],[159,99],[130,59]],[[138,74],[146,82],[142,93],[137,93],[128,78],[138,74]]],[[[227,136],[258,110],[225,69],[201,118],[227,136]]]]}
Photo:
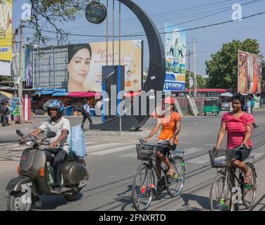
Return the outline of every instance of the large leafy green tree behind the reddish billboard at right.
{"type": "Polygon", "coordinates": [[[211,55],[206,61],[206,72],[209,75],[208,87],[236,89],[238,77],[238,50],[259,53],[259,43],[256,39],[245,41],[233,40],[223,44],[222,49],[211,55]]]}

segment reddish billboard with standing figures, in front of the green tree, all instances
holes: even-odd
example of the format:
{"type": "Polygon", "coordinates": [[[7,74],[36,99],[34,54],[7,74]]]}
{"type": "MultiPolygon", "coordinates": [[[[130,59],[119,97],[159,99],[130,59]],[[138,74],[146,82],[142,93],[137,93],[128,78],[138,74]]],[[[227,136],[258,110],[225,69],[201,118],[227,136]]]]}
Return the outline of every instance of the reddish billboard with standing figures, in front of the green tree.
{"type": "Polygon", "coordinates": [[[238,51],[238,92],[261,94],[262,60],[259,55],[238,51]]]}

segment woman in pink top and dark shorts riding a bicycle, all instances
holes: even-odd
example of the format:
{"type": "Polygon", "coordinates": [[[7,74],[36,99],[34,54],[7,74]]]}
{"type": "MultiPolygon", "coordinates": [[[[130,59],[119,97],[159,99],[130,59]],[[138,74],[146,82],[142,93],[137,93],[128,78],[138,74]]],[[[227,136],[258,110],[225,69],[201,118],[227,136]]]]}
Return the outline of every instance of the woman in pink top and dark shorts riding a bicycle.
{"type": "Polygon", "coordinates": [[[251,183],[252,174],[248,171],[247,165],[243,162],[249,157],[252,150],[252,124],[255,122],[251,114],[243,112],[244,98],[241,94],[234,94],[231,97],[233,111],[224,113],[222,117],[221,129],[219,131],[216,150],[224,140],[227,130],[227,149],[233,150],[233,160],[231,165],[245,172],[245,184],[251,183]],[[236,150],[242,146],[242,150],[236,150]]]}

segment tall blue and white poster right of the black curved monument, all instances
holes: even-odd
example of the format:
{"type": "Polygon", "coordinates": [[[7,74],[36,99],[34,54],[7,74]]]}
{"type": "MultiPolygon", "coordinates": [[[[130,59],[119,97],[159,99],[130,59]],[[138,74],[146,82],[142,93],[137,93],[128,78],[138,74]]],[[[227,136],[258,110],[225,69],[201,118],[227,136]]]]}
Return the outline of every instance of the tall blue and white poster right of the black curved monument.
{"type": "Polygon", "coordinates": [[[181,27],[165,24],[165,90],[185,91],[186,32],[181,27]]]}

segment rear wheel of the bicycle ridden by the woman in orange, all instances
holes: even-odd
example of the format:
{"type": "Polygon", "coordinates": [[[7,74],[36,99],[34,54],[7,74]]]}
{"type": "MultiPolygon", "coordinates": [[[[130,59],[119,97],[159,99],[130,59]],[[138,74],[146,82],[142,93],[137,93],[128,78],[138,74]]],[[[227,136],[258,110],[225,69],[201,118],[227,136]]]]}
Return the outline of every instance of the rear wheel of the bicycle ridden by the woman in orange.
{"type": "Polygon", "coordinates": [[[186,174],[186,163],[180,156],[175,156],[173,160],[170,160],[172,168],[175,170],[175,175],[168,182],[168,193],[174,198],[181,193],[184,186],[185,174],[186,174]]]}

